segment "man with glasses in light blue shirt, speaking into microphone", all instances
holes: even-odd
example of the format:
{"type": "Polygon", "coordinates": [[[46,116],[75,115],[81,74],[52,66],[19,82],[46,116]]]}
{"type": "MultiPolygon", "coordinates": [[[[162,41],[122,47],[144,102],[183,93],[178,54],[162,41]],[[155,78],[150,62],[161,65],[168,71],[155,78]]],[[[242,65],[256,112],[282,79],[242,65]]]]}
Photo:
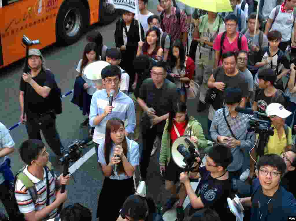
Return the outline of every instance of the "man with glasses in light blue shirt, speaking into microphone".
{"type": "Polygon", "coordinates": [[[96,143],[96,155],[98,156],[99,144],[105,141],[106,123],[113,117],[122,121],[128,120],[126,136],[133,133],[136,127],[136,113],[133,100],[121,92],[118,85],[121,82],[121,71],[117,65],[104,67],[101,72],[102,83],[106,89],[96,91],[91,99],[89,112],[89,124],[95,127],[93,141],[96,143]],[[109,106],[110,91],[113,90],[112,106],[109,106]]]}

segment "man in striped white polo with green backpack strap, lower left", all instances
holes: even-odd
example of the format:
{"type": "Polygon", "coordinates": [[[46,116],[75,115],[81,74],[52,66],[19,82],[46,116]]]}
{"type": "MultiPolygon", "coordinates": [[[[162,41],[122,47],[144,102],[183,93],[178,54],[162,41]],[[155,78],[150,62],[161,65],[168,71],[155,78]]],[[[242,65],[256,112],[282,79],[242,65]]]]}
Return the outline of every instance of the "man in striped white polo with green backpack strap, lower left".
{"type": "Polygon", "coordinates": [[[43,221],[55,217],[57,208],[67,200],[67,191],[56,192],[61,185],[68,185],[70,175],[57,178],[52,175],[49,169],[45,170],[48,163],[48,153],[44,143],[40,140],[29,139],[22,143],[19,149],[20,157],[25,162],[26,167],[23,171],[25,175],[35,184],[37,191],[37,200],[33,202],[32,196],[28,189],[17,179],[15,184],[15,198],[20,209],[27,221],[43,221]],[[49,180],[49,190],[46,185],[46,171],[49,180]],[[49,204],[47,205],[47,191],[49,191],[49,204]]]}

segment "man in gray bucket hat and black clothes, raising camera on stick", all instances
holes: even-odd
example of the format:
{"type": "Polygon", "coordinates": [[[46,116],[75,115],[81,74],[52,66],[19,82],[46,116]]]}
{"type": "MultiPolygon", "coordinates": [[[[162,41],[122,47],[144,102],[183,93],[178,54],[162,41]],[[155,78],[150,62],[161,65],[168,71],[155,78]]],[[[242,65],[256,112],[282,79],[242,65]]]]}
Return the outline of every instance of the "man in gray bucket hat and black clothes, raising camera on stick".
{"type": "Polygon", "coordinates": [[[54,75],[45,67],[38,49],[28,54],[30,73],[23,73],[20,82],[20,121],[26,122],[29,139],[41,140],[40,130],[52,151],[61,158],[63,147],[56,129],[56,115],[51,93],[56,86],[54,75]]]}

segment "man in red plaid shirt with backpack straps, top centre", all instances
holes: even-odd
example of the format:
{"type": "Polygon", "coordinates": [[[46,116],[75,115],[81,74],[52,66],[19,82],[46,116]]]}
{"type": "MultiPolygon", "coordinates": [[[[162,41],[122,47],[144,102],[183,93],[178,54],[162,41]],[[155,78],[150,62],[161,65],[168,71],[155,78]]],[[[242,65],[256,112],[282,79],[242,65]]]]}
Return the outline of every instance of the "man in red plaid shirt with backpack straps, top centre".
{"type": "Polygon", "coordinates": [[[160,14],[160,28],[168,33],[170,41],[175,42],[181,39],[184,47],[186,47],[188,39],[188,27],[186,15],[180,9],[172,6],[171,0],[158,0],[160,6],[164,9],[160,14]]]}

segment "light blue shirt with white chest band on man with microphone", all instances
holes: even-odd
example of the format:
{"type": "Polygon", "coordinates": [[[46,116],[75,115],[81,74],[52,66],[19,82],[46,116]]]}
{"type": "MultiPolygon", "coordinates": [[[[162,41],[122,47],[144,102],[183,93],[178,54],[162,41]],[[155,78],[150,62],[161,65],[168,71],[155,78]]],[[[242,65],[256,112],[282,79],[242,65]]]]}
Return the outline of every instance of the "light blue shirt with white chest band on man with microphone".
{"type": "Polygon", "coordinates": [[[136,127],[136,113],[133,100],[125,93],[119,91],[113,98],[112,112],[108,114],[98,125],[94,125],[94,117],[104,113],[105,107],[109,104],[109,97],[106,89],[96,91],[91,99],[91,109],[89,112],[89,124],[95,127],[93,141],[103,143],[105,141],[106,123],[113,117],[118,117],[122,121],[128,120],[126,131],[133,133],[136,127]]]}

